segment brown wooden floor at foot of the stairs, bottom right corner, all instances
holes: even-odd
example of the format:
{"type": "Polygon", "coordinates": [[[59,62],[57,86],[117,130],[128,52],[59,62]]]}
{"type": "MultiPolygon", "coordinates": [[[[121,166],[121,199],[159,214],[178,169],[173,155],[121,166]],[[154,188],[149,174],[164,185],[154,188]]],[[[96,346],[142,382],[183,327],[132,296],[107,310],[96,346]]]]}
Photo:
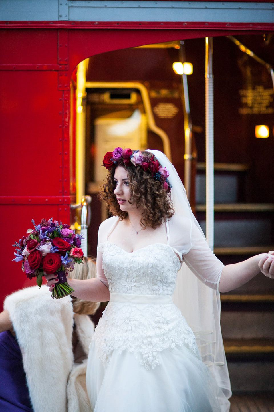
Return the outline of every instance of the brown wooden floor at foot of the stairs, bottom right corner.
{"type": "Polygon", "coordinates": [[[230,412],[274,412],[274,392],[237,394],[230,403],[230,412]]]}

